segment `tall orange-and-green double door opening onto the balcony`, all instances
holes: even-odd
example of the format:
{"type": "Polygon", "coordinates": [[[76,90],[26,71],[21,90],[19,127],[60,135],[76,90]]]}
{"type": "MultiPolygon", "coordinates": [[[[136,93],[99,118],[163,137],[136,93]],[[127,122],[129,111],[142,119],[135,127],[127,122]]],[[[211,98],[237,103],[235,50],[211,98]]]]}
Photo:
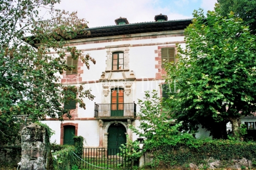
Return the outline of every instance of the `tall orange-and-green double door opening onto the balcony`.
{"type": "Polygon", "coordinates": [[[124,116],[124,89],[111,90],[111,114],[110,116],[124,116]]]}

